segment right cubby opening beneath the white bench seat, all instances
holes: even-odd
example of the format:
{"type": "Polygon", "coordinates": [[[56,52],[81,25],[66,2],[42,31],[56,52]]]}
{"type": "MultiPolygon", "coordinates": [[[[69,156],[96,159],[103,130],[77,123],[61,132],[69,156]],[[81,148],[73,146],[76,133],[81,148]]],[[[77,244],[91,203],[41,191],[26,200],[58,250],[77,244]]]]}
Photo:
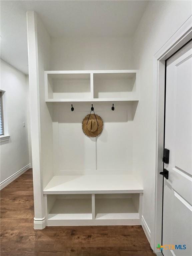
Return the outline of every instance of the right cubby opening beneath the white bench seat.
{"type": "Polygon", "coordinates": [[[140,194],[95,195],[95,219],[139,219],[140,194]]]}

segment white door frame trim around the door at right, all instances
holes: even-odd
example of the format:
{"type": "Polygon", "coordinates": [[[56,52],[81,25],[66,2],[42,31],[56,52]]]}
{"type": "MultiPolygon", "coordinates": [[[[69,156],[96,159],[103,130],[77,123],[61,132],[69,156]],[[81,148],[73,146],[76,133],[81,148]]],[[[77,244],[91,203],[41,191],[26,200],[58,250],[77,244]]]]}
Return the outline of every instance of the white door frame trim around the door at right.
{"type": "Polygon", "coordinates": [[[165,102],[165,60],[192,39],[192,15],[174,33],[174,35],[154,55],[154,93],[156,106],[154,120],[156,120],[156,171],[154,172],[154,200],[153,226],[151,230],[151,247],[157,255],[162,255],[156,248],[161,243],[162,234],[162,201],[163,177],[159,172],[163,170],[163,141],[164,141],[164,102],[165,102]]]}

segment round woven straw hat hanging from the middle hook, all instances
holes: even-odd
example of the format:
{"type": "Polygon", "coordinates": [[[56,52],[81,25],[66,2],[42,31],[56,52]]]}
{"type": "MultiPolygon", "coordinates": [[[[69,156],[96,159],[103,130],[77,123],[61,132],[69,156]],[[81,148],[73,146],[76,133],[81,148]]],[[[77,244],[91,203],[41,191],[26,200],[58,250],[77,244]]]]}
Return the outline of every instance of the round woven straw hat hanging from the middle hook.
{"type": "Polygon", "coordinates": [[[103,131],[103,120],[95,114],[87,115],[83,119],[82,129],[88,137],[97,137],[103,131]]]}

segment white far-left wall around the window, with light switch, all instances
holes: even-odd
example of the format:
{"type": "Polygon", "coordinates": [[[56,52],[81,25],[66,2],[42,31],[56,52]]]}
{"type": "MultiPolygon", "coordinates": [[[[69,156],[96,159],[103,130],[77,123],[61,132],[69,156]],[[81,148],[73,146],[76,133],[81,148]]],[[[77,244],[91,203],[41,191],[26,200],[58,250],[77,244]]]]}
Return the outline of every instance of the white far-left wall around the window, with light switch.
{"type": "Polygon", "coordinates": [[[1,89],[6,91],[6,114],[10,134],[9,140],[1,142],[0,145],[1,183],[31,163],[27,80],[28,76],[1,60],[1,89]]]}

